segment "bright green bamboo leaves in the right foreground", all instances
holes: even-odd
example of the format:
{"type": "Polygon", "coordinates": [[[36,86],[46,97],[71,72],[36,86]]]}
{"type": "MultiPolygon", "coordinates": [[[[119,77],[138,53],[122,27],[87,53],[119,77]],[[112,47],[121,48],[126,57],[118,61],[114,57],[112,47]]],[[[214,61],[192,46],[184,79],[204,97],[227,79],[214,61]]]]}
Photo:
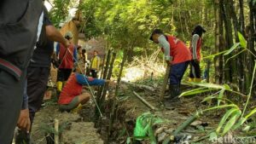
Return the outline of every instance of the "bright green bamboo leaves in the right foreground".
{"type": "MultiPolygon", "coordinates": [[[[229,49],[228,51],[225,51],[224,55],[229,55],[233,50],[235,50],[236,48],[238,48],[239,45],[241,45],[241,47],[243,48],[241,50],[241,52],[248,50],[245,45],[245,39],[241,36],[241,34],[239,34],[239,39],[240,39],[240,43],[235,43],[234,46],[229,49]]],[[[235,57],[235,56],[233,56],[235,57]]],[[[218,106],[216,107],[210,107],[207,108],[205,110],[203,110],[202,112],[208,112],[208,111],[212,111],[212,110],[216,110],[216,109],[220,109],[220,108],[229,108],[230,109],[225,112],[223,118],[221,119],[221,121],[218,124],[218,128],[216,130],[216,134],[219,135],[220,131],[222,131],[221,135],[225,135],[227,132],[229,132],[230,130],[236,130],[238,128],[240,128],[242,126],[242,124],[244,124],[248,118],[250,118],[253,114],[256,113],[256,108],[254,108],[252,111],[248,112],[248,114],[244,117],[244,114],[247,110],[247,105],[248,102],[250,100],[250,97],[252,95],[252,89],[253,89],[253,79],[255,77],[255,73],[256,73],[256,60],[254,61],[255,65],[254,65],[254,69],[253,69],[253,78],[252,78],[252,82],[251,82],[251,87],[250,87],[250,92],[249,95],[247,96],[247,103],[243,108],[240,108],[238,105],[234,104],[232,101],[228,100],[228,99],[224,99],[224,92],[225,91],[230,91],[231,93],[235,93],[240,94],[239,92],[233,91],[232,89],[230,89],[230,86],[227,84],[224,85],[217,85],[217,84],[197,84],[197,83],[190,83],[193,85],[197,85],[197,86],[201,86],[202,88],[199,89],[194,89],[194,90],[189,90],[187,92],[183,92],[182,95],[195,95],[195,94],[200,94],[202,92],[205,92],[205,90],[207,89],[220,89],[218,91],[218,93],[215,93],[213,95],[209,95],[207,96],[203,101],[211,101],[212,99],[216,98],[218,100],[218,106]],[[218,96],[217,96],[218,95],[218,96]],[[230,104],[224,104],[224,105],[220,105],[220,102],[223,103],[230,103],[230,104]],[[243,111],[241,112],[241,109],[243,109],[243,111]],[[229,119],[229,120],[228,120],[229,119]],[[225,124],[225,126],[224,126],[225,124]]],[[[246,126],[244,130],[250,130],[250,127],[246,126]]],[[[215,135],[212,133],[212,135],[215,135]]]]}

